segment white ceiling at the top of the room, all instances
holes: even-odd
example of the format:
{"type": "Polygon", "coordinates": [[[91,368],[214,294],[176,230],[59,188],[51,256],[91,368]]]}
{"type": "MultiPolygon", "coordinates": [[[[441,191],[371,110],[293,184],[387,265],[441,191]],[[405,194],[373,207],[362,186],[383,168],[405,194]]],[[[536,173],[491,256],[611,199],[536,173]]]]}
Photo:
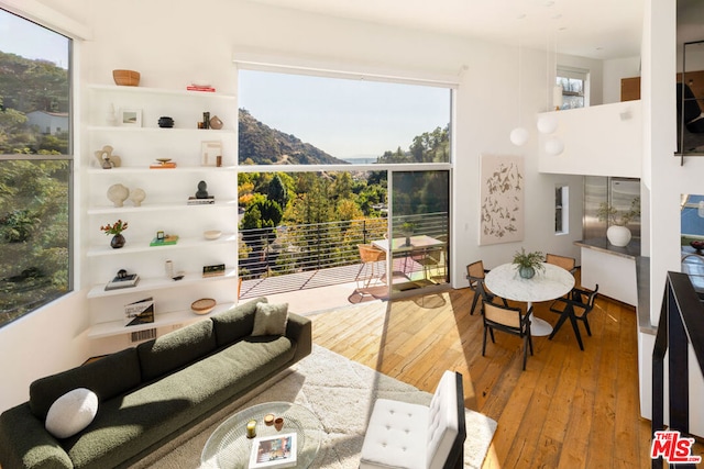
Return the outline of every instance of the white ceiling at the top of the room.
{"type": "Polygon", "coordinates": [[[596,59],[640,55],[644,0],[250,0],[596,59]]]}

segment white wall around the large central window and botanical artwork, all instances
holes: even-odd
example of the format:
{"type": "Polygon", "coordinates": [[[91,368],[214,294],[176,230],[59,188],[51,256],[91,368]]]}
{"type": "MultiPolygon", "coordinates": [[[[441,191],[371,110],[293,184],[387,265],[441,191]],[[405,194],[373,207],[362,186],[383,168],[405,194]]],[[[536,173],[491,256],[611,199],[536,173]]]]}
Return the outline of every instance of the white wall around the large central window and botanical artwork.
{"type": "MultiPolygon", "coordinates": [[[[237,0],[211,0],[198,5],[172,0],[42,0],[42,3],[91,26],[92,40],[82,45],[78,63],[85,83],[112,83],[112,69],[131,68],[141,71],[141,85],[145,87],[183,89],[191,80],[202,78],[220,91],[234,93],[237,70],[232,54],[248,48],[366,68],[416,69],[421,75],[459,72],[466,66],[459,80],[455,110],[453,237],[458,242],[451,259],[454,287],[466,284],[466,264],[484,259],[487,267],[493,267],[510,260],[521,246],[579,258],[579,249],[572,242],[581,238],[582,178],[538,174],[535,119],[546,103],[544,52],[524,51],[519,116],[518,87],[502,78],[518,75],[516,48],[512,47],[237,0]],[[516,148],[508,135],[519,121],[531,135],[524,147],[516,148]],[[484,153],[525,157],[527,216],[522,243],[477,245],[477,175],[480,155],[484,153]],[[553,234],[556,183],[570,186],[568,235],[553,234]]],[[[582,68],[598,65],[580,58],[568,62],[565,65],[582,68]]],[[[601,70],[596,78],[592,92],[598,94],[601,102],[601,70]]],[[[87,96],[82,89],[81,99],[87,96]]],[[[85,103],[80,108],[85,109],[85,103]]],[[[85,204],[86,194],[79,192],[77,200],[85,204]]],[[[80,211],[78,206],[78,215],[80,211]]],[[[78,220],[77,232],[85,232],[88,228],[85,220],[80,216],[78,220]]],[[[82,244],[81,239],[77,246],[82,244]]],[[[79,267],[85,265],[84,260],[79,257],[79,267]]],[[[89,282],[88,278],[78,279],[84,289],[89,282]]],[[[11,377],[3,382],[0,410],[24,401],[33,379],[78,365],[97,348],[85,338],[90,321],[84,297],[81,291],[0,330],[0,370],[4,377],[11,377]]]]}

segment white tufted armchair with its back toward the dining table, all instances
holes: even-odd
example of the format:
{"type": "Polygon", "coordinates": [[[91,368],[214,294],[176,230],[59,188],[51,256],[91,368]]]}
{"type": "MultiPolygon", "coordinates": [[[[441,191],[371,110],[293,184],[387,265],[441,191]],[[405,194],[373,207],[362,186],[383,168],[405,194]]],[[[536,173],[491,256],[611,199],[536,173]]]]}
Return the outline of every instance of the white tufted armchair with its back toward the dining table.
{"type": "Polygon", "coordinates": [[[362,445],[361,469],[450,469],[464,465],[462,375],[446,371],[430,406],[378,399],[362,445]]]}

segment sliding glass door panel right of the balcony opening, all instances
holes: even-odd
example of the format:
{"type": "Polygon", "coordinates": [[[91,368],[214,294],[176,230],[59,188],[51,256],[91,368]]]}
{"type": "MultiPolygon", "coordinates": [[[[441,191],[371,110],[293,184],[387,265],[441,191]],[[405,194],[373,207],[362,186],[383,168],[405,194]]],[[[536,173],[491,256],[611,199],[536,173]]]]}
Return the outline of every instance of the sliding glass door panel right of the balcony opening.
{"type": "Polygon", "coordinates": [[[450,282],[450,171],[391,172],[391,294],[450,282]]]}

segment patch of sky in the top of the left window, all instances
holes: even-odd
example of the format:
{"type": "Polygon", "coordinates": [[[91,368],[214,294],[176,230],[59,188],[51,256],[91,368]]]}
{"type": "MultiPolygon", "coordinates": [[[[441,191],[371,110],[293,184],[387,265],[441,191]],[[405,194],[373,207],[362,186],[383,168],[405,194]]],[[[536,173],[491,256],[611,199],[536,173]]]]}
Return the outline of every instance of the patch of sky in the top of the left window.
{"type": "Polygon", "coordinates": [[[0,51],[68,68],[66,37],[4,10],[0,10],[0,51]]]}

